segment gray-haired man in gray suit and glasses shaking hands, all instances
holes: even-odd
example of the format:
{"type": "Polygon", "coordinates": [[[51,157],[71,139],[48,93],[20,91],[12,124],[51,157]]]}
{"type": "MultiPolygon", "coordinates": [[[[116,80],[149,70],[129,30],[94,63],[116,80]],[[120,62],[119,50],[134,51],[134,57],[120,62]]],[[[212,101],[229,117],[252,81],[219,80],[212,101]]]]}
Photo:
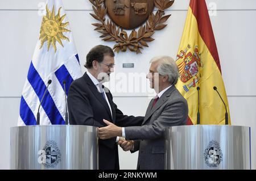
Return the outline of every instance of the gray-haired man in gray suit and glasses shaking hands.
{"type": "Polygon", "coordinates": [[[148,105],[141,127],[117,127],[107,120],[107,127],[98,128],[98,136],[108,139],[123,136],[123,150],[139,150],[137,169],[164,169],[166,127],[185,125],[188,117],[187,100],[176,89],[179,71],[173,58],[152,58],[147,78],[150,87],[157,93],[148,105]]]}

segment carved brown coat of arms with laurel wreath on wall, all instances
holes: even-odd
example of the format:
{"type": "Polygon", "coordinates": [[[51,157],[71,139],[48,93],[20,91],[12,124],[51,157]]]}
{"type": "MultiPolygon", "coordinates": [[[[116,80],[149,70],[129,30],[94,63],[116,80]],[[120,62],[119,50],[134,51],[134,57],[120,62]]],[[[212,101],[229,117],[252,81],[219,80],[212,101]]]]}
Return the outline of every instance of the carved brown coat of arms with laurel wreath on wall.
{"type": "Polygon", "coordinates": [[[143,47],[148,47],[147,42],[153,41],[151,37],[156,30],[162,30],[171,15],[164,15],[164,10],[172,6],[170,0],[89,0],[93,5],[93,18],[100,23],[93,23],[94,30],[102,33],[104,41],[115,41],[115,52],[141,53],[143,47]],[[158,11],[154,14],[154,7],[158,11]],[[109,18],[105,16],[108,13],[109,18]],[[144,23],[146,21],[146,23],[144,23]],[[144,24],[143,24],[144,23],[144,24]],[[140,27],[139,27],[140,26],[140,27]],[[135,28],[138,28],[138,31],[135,28]],[[130,35],[124,30],[132,30],[130,35]]]}

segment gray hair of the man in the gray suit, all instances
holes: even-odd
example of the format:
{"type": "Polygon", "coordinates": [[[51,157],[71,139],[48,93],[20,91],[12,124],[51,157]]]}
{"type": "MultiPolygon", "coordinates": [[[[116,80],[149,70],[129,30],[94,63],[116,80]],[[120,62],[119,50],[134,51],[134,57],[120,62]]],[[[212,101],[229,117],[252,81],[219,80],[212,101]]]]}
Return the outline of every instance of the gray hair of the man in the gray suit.
{"type": "Polygon", "coordinates": [[[174,61],[174,58],[169,56],[158,56],[150,60],[150,63],[158,62],[158,68],[156,70],[160,75],[168,75],[168,82],[172,85],[177,83],[179,78],[179,69],[174,61]]]}

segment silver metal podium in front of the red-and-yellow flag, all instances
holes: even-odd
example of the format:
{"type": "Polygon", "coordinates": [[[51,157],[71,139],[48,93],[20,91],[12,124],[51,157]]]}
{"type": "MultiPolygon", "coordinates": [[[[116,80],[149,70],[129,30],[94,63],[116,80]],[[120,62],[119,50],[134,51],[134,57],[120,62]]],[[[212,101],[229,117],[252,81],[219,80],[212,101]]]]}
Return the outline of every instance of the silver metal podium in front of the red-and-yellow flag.
{"type": "Polygon", "coordinates": [[[165,169],[251,169],[250,127],[185,125],[166,129],[165,169]]]}

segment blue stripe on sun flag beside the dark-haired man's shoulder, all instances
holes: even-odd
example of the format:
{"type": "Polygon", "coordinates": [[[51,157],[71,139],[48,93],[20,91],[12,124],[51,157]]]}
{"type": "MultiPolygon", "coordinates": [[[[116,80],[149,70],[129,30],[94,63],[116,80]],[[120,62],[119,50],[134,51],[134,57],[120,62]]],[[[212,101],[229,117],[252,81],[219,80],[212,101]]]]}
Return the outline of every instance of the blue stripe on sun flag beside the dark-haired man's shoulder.
{"type": "Polygon", "coordinates": [[[68,72],[68,69],[65,67],[65,65],[62,65],[57,71],[55,71],[55,75],[60,82],[60,85],[62,89],[64,90],[63,81],[66,81],[66,94],[68,95],[69,86],[73,82],[73,78],[68,72]]]}

